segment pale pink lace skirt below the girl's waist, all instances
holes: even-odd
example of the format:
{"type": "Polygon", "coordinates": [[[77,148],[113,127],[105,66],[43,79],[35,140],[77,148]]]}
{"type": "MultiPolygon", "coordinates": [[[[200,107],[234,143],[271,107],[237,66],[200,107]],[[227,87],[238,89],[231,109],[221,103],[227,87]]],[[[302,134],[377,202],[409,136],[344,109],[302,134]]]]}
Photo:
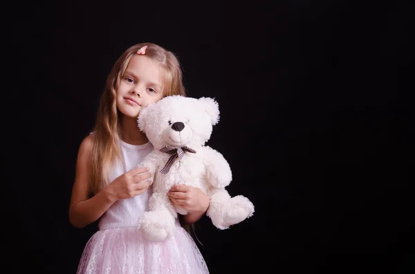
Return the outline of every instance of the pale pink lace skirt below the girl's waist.
{"type": "Polygon", "coordinates": [[[180,226],[163,242],[145,239],[135,227],[97,231],[84,248],[77,274],[209,273],[192,237],[180,226]]]}

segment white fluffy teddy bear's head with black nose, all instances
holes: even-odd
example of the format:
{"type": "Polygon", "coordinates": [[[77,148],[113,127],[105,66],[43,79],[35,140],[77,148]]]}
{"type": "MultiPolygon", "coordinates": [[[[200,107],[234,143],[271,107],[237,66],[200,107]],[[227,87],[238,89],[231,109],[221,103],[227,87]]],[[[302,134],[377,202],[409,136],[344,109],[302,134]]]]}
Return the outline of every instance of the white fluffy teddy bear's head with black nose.
{"type": "Polygon", "coordinates": [[[209,97],[172,95],[140,110],[138,128],[154,148],[203,146],[219,121],[219,106],[209,97]]]}

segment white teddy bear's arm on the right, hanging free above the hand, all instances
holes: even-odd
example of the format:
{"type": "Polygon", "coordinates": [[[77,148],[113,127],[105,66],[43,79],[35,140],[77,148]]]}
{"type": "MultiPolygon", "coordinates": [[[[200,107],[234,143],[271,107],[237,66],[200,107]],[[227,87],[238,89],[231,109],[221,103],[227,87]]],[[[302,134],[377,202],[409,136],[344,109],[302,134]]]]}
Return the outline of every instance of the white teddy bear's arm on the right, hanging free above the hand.
{"type": "Polygon", "coordinates": [[[224,188],[232,181],[232,171],[225,157],[216,150],[203,148],[206,179],[214,188],[224,188]]]}

